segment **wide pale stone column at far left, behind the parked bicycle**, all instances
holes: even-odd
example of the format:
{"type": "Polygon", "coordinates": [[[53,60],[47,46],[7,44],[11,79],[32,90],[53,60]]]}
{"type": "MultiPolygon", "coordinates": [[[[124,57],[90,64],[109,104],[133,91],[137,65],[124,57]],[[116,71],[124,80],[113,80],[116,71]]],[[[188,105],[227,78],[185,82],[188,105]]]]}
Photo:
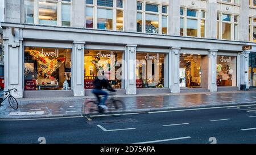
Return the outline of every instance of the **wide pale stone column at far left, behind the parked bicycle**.
{"type": "Polygon", "coordinates": [[[17,89],[12,92],[16,98],[23,97],[23,39],[20,37],[22,30],[4,28],[3,42],[5,45],[5,91],[17,89]]]}

